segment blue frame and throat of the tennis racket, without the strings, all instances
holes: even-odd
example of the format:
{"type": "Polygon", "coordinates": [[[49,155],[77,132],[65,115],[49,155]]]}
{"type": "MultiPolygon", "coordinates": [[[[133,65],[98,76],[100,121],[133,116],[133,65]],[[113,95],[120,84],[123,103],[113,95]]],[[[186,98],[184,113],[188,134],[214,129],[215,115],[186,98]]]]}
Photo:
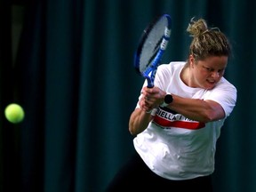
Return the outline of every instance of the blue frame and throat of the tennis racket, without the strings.
{"type": "Polygon", "coordinates": [[[163,57],[163,54],[164,54],[164,51],[166,50],[168,42],[170,40],[171,29],[172,29],[172,19],[171,19],[171,16],[169,14],[164,14],[164,15],[160,16],[159,18],[157,18],[156,20],[154,20],[154,22],[149,24],[147,29],[144,30],[144,33],[143,33],[142,38],[140,40],[140,45],[138,47],[137,52],[135,53],[134,67],[136,68],[137,72],[140,73],[140,76],[143,76],[144,78],[147,79],[149,88],[154,87],[154,80],[155,80],[155,76],[156,76],[156,70],[157,70],[157,67],[160,64],[160,61],[161,61],[161,59],[163,57]],[[152,29],[152,26],[154,26],[154,24],[158,20],[161,20],[163,17],[165,17],[167,19],[167,26],[165,26],[165,30],[164,30],[164,34],[163,34],[163,37],[162,37],[161,44],[159,46],[159,50],[156,52],[156,56],[152,60],[151,65],[149,65],[144,71],[140,71],[140,52],[141,52],[142,46],[143,46],[144,42],[146,41],[148,33],[152,29]]]}

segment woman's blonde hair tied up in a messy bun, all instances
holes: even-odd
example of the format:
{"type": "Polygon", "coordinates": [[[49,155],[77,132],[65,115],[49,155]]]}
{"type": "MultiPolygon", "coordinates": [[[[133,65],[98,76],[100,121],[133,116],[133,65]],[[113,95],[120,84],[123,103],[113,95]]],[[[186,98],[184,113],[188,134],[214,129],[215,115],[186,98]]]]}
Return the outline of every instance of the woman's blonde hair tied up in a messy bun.
{"type": "Polygon", "coordinates": [[[193,37],[189,54],[192,54],[195,60],[204,60],[209,56],[229,56],[231,48],[228,38],[219,28],[208,28],[204,19],[192,18],[187,31],[193,37]]]}

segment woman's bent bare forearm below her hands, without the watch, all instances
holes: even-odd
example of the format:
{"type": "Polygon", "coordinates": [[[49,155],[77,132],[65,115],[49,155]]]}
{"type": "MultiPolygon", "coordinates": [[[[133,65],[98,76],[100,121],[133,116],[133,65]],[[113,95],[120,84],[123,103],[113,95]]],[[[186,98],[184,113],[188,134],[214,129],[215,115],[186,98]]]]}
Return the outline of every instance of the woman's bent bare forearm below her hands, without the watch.
{"type": "Polygon", "coordinates": [[[129,132],[132,135],[137,135],[147,129],[149,122],[152,120],[152,116],[141,108],[136,108],[130,117],[129,132]]]}

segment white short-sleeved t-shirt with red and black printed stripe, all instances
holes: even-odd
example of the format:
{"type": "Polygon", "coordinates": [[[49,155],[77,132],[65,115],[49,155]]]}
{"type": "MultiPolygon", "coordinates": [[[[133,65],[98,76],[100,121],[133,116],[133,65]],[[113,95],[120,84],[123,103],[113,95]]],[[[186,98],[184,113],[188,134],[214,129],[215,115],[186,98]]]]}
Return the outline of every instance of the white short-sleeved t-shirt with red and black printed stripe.
{"type": "MultiPolygon", "coordinates": [[[[185,62],[160,65],[156,72],[155,86],[184,98],[214,100],[220,103],[226,116],[219,121],[204,124],[192,121],[169,108],[157,108],[153,121],[134,138],[133,144],[148,167],[169,180],[188,180],[214,171],[214,154],[220,127],[236,105],[236,87],[224,77],[212,90],[191,88],[184,84],[180,79],[184,65],[185,62]]],[[[140,108],[139,103],[136,108],[140,108]]]]}

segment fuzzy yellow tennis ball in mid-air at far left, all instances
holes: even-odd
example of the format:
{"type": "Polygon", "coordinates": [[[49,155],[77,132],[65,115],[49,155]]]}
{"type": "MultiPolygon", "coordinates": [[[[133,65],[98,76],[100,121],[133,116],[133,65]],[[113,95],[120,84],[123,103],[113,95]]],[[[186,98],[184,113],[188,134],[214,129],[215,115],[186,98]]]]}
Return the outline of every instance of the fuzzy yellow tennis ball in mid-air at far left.
{"type": "Polygon", "coordinates": [[[18,124],[24,119],[25,113],[20,105],[11,103],[5,108],[4,115],[12,124],[18,124]]]}

